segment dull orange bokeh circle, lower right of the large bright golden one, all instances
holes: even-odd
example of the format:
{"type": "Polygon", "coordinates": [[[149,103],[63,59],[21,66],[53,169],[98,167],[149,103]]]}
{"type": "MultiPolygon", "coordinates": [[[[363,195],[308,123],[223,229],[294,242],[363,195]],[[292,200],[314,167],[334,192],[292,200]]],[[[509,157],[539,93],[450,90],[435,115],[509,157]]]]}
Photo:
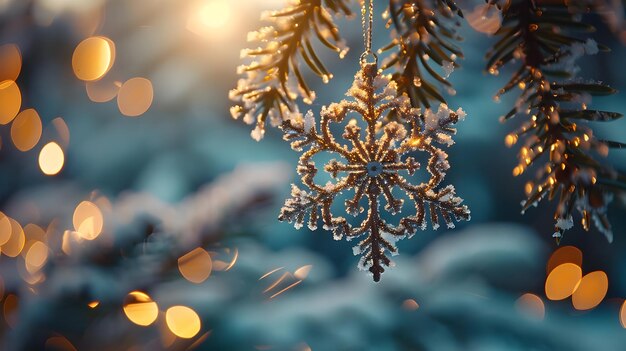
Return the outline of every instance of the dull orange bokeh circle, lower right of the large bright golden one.
{"type": "Polygon", "coordinates": [[[152,82],[135,77],[122,84],[117,94],[117,106],[124,116],[137,117],[148,111],[153,98],[152,82]]]}

